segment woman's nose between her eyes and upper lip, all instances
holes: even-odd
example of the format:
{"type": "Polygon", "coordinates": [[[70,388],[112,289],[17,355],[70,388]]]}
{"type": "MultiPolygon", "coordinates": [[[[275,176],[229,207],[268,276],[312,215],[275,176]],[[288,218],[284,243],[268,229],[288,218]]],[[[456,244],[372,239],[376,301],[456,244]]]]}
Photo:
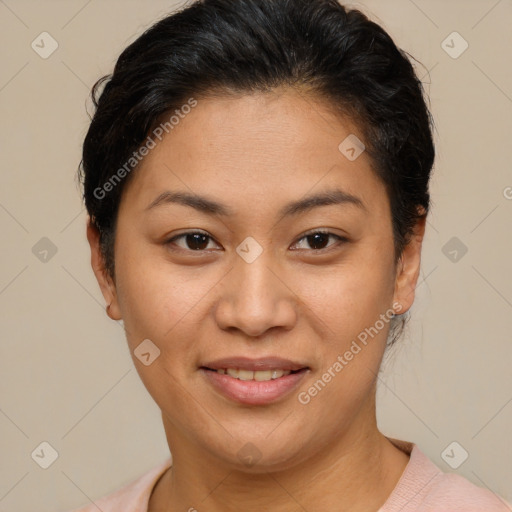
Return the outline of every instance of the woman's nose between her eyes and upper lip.
{"type": "Polygon", "coordinates": [[[292,283],[286,281],[287,276],[272,265],[265,251],[252,263],[237,256],[234,268],[219,283],[218,326],[250,337],[262,336],[270,329],[292,329],[298,301],[292,283]]]}

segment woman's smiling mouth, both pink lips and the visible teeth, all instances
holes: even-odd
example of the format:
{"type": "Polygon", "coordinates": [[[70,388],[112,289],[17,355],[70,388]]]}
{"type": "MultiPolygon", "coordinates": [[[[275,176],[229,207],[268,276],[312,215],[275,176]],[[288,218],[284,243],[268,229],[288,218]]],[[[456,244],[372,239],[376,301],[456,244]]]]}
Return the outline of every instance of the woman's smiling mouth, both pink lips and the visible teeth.
{"type": "Polygon", "coordinates": [[[207,363],[199,371],[216,393],[230,401],[268,405],[289,397],[311,368],[277,358],[230,358],[207,363]]]}

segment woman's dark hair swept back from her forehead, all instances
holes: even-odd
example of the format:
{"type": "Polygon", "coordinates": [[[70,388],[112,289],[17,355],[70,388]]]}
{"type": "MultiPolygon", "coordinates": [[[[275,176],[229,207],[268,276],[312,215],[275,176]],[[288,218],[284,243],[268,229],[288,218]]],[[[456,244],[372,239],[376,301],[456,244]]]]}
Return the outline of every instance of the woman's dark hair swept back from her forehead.
{"type": "Polygon", "coordinates": [[[429,211],[435,153],[432,116],[408,55],[336,0],[199,0],[156,22],[92,90],[79,177],[107,271],[114,277],[117,212],[133,172],[108,191],[104,184],[163,116],[191,97],[279,86],[327,100],[357,124],[389,197],[398,261],[429,211]]]}

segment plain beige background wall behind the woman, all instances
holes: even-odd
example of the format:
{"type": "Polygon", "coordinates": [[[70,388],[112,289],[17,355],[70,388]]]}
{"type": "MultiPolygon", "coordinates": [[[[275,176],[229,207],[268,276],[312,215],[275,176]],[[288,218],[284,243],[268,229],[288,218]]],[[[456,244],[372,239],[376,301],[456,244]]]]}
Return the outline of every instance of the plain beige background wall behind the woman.
{"type": "MultiPolygon", "coordinates": [[[[0,512],[67,510],[168,456],[89,266],[75,170],[90,86],[176,5],[0,0],[0,512]],[[43,31],[59,44],[48,59],[31,48],[43,31]],[[57,248],[47,262],[32,252],[42,237],[57,248]],[[59,455],[48,469],[31,458],[43,441],[59,455]]],[[[422,277],[381,377],[380,427],[510,501],[512,2],[352,5],[425,65],[437,122],[422,277]],[[453,31],[469,43],[457,59],[441,46],[453,31]],[[468,249],[456,262],[443,252],[452,237],[468,249]],[[441,457],[453,441],[469,453],[457,470],[441,457]]]]}

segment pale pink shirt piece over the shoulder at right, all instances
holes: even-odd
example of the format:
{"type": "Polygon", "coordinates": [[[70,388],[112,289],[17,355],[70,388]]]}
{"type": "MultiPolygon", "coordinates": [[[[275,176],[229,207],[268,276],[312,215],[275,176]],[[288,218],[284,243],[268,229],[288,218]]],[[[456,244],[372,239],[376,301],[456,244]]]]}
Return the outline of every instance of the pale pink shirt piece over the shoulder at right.
{"type": "Polygon", "coordinates": [[[512,512],[512,507],[490,490],[441,471],[415,444],[391,441],[410,459],[379,512],[512,512]]]}

